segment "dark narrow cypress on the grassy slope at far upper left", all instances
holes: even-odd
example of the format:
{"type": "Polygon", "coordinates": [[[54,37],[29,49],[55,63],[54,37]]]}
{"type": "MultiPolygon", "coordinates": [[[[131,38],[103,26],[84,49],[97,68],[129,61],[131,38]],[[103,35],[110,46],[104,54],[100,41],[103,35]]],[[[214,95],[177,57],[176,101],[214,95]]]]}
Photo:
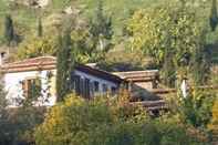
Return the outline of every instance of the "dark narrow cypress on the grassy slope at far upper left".
{"type": "Polygon", "coordinates": [[[13,20],[10,14],[7,14],[4,20],[4,38],[8,45],[14,40],[13,20]]]}

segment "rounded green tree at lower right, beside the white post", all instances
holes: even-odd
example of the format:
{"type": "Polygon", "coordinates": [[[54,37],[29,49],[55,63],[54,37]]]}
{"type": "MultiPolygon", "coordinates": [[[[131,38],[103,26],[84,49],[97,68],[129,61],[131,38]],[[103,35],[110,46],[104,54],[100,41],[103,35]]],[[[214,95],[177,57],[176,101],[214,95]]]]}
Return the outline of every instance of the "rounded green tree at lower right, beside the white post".
{"type": "Polygon", "coordinates": [[[183,99],[180,114],[187,124],[207,128],[212,118],[212,105],[217,95],[215,92],[194,89],[187,99],[183,99]]]}

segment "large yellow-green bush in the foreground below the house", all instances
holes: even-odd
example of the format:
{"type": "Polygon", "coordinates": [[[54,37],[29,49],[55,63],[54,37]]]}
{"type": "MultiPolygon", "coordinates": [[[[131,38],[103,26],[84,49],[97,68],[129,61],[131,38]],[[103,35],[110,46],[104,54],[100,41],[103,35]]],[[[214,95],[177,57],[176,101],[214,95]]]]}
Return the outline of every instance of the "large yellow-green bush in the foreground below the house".
{"type": "Polygon", "coordinates": [[[135,110],[125,110],[128,112],[125,113],[123,110],[126,106],[118,107],[118,105],[121,104],[117,100],[97,97],[87,102],[79,96],[70,95],[63,103],[54,106],[44,123],[37,128],[37,144],[86,145],[91,143],[92,137],[89,136],[93,134],[93,131],[101,132],[103,128],[111,128],[118,122],[125,122],[126,117],[132,118],[128,120],[132,122],[138,121],[139,117],[127,116],[127,114],[137,116],[135,110]]]}

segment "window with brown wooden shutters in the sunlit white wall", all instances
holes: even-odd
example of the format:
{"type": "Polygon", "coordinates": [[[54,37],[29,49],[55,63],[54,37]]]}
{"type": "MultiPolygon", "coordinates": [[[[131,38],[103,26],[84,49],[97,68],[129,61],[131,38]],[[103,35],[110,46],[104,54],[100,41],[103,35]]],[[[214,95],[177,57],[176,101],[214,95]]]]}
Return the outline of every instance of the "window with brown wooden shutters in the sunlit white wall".
{"type": "Polygon", "coordinates": [[[22,81],[22,90],[25,97],[39,97],[41,94],[40,79],[27,79],[22,81]]]}

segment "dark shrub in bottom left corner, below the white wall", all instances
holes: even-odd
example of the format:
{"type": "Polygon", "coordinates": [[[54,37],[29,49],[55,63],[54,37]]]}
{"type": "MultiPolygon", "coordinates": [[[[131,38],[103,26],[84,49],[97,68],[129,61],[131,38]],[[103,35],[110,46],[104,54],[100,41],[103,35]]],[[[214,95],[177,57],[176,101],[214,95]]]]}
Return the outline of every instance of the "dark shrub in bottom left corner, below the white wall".
{"type": "Polygon", "coordinates": [[[43,122],[44,111],[32,106],[6,111],[0,120],[0,144],[34,143],[34,127],[43,122]]]}

